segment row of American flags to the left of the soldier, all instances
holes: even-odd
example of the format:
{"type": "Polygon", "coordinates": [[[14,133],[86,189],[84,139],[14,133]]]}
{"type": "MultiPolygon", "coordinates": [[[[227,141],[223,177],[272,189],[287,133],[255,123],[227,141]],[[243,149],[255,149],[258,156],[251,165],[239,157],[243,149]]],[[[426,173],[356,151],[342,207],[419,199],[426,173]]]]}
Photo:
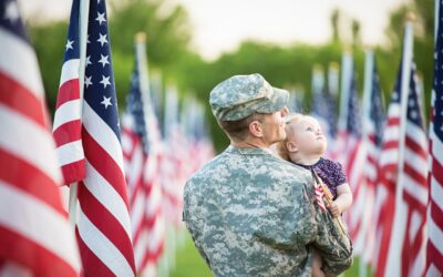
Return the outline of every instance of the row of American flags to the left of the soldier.
{"type": "Polygon", "coordinates": [[[16,0],[0,38],[0,275],[157,276],[184,181],[214,155],[203,106],[168,90],[162,135],[140,34],[121,124],[105,1],[73,0],[51,134],[16,0]]]}

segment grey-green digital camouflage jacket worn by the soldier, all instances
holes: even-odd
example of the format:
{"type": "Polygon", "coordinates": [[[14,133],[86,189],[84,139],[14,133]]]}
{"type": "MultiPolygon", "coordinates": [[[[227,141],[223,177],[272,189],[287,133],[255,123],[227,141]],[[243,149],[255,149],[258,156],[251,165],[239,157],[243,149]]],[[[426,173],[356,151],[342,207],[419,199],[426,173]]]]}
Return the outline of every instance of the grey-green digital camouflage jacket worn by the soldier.
{"type": "Polygon", "coordinates": [[[265,150],[229,146],[194,174],[183,218],[216,276],[311,276],[313,248],[327,274],[352,264],[309,171],[265,150]]]}

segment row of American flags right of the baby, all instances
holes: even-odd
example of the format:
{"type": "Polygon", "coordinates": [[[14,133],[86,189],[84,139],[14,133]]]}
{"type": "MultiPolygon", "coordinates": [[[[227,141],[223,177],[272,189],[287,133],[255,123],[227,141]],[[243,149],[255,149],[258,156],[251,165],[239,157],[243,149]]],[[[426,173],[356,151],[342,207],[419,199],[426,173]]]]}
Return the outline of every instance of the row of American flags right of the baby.
{"type": "MultiPolygon", "coordinates": [[[[443,276],[443,25],[439,24],[436,34],[429,132],[412,38],[412,23],[406,22],[387,113],[373,53],[367,52],[362,105],[352,58],[344,53],[338,133],[327,129],[329,147],[333,145],[328,156],[343,164],[354,198],[343,214],[354,253],[375,276],[443,276]]],[[[313,89],[315,101],[321,103],[312,105],[312,114],[329,126],[334,124],[330,114],[337,106],[328,100],[328,90],[313,89]]],[[[360,274],[365,275],[365,269],[360,274]]]]}

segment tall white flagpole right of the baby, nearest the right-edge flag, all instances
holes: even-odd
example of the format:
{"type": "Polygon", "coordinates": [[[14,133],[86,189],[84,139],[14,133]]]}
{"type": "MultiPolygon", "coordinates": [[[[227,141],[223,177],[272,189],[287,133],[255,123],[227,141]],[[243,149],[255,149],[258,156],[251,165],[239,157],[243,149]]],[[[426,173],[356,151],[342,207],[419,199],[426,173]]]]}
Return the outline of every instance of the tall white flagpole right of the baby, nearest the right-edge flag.
{"type": "Polygon", "coordinates": [[[404,239],[404,232],[401,228],[404,226],[405,213],[403,196],[403,167],[404,167],[404,151],[405,151],[405,132],[406,132],[406,115],[408,115],[408,96],[410,91],[411,66],[413,57],[413,14],[408,13],[408,19],[404,24],[404,41],[403,41],[403,60],[402,60],[402,75],[401,75],[401,91],[400,91],[400,137],[399,137],[399,163],[398,163],[398,178],[395,188],[395,214],[391,237],[388,263],[385,274],[387,276],[401,276],[401,249],[404,239]]]}

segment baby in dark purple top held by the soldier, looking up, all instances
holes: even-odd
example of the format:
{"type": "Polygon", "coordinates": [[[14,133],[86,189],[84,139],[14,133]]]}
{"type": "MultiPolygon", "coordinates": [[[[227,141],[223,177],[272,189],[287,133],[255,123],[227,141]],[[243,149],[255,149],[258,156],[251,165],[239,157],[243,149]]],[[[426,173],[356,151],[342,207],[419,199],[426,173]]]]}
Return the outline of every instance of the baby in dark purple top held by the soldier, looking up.
{"type": "MultiPolygon", "coordinates": [[[[333,202],[327,205],[332,216],[338,217],[352,204],[352,193],[347,183],[342,166],[323,158],[327,140],[320,123],[309,115],[289,114],[286,121],[286,140],[278,145],[279,155],[307,170],[313,171],[328,186],[333,202]]],[[[321,270],[321,258],[315,255],[312,276],[324,276],[321,270]]]]}

